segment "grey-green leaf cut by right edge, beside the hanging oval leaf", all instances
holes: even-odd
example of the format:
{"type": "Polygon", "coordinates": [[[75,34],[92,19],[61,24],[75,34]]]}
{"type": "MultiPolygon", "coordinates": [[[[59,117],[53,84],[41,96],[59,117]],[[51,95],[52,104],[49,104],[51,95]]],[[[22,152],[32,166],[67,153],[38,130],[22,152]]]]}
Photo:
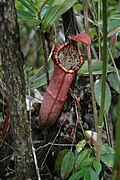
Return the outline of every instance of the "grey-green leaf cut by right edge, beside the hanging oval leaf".
{"type": "Polygon", "coordinates": [[[120,81],[116,73],[110,73],[107,77],[110,86],[120,94],[120,81]]]}

